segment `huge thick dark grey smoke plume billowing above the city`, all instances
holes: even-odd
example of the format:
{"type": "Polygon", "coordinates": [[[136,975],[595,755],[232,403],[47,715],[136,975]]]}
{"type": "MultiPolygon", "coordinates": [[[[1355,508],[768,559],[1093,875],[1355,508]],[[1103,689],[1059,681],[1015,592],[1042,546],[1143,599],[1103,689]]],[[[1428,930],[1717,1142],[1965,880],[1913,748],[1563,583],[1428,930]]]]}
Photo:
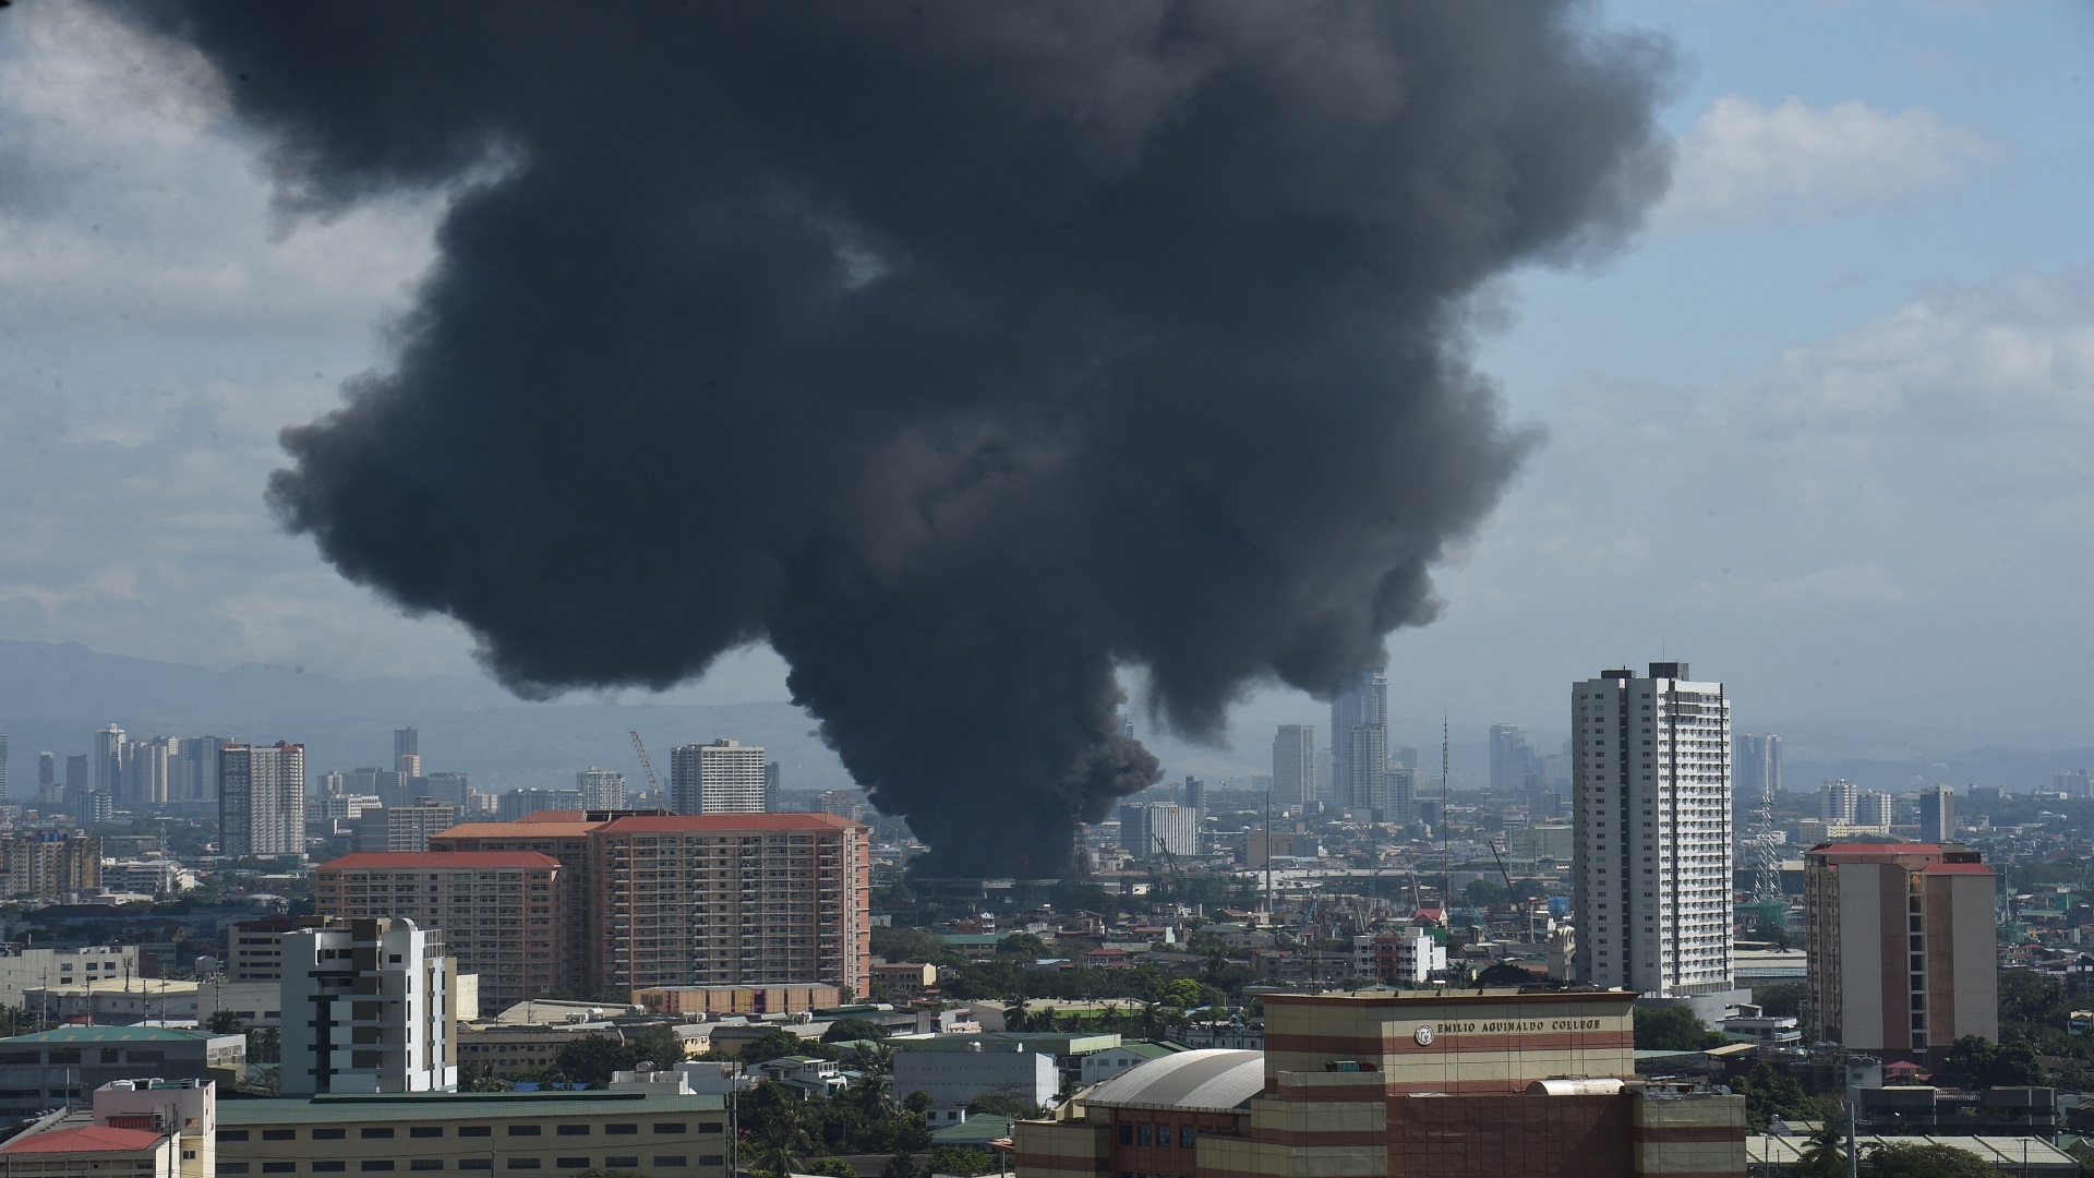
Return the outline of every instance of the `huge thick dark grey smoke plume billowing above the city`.
{"type": "Polygon", "coordinates": [[[461,184],[270,501],[526,696],[771,641],[949,874],[1051,874],[1430,620],[1529,436],[1466,363],[1665,182],[1665,48],[1550,0],[138,2],[287,205],[461,184]]]}

